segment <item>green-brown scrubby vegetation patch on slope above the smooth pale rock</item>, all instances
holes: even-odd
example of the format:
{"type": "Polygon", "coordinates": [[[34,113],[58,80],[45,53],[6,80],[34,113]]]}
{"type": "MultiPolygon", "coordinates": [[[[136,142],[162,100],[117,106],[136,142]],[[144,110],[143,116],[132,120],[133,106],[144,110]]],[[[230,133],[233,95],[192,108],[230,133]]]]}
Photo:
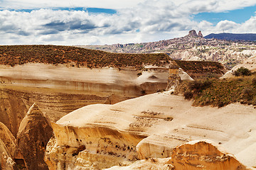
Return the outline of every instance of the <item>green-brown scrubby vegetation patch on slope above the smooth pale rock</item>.
{"type": "Polygon", "coordinates": [[[230,103],[256,106],[256,74],[230,79],[183,81],[178,93],[193,99],[193,106],[223,107],[230,103]]]}

